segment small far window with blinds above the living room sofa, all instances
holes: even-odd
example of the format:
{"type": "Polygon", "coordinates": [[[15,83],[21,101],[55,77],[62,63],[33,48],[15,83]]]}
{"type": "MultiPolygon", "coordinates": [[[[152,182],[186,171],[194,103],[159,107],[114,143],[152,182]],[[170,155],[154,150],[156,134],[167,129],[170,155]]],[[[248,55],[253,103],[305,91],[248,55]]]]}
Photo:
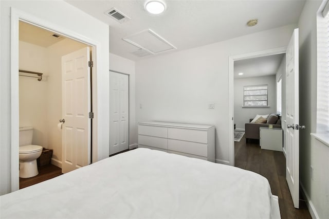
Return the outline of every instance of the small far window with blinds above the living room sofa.
{"type": "Polygon", "coordinates": [[[243,87],[243,106],[267,107],[267,85],[243,87]]]}

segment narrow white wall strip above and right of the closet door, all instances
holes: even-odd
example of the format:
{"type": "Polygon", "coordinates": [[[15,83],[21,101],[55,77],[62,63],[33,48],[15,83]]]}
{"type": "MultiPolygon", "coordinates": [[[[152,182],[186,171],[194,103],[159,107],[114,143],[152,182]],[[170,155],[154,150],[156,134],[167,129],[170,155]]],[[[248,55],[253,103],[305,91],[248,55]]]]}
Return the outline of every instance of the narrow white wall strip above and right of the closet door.
{"type": "Polygon", "coordinates": [[[109,69],[129,75],[129,145],[137,144],[137,126],[135,116],[135,62],[109,53],[109,69]]]}

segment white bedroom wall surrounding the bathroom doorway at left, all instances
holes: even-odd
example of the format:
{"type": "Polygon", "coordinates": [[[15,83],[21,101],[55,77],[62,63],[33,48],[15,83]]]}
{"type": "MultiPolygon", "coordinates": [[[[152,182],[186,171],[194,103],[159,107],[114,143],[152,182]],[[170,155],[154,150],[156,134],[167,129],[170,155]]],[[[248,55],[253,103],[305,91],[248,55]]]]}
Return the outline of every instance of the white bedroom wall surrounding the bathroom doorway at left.
{"type": "MultiPolygon", "coordinates": [[[[12,129],[12,111],[11,108],[11,7],[18,9],[24,17],[32,18],[33,22],[47,23],[52,28],[61,29],[70,35],[78,36],[85,41],[93,41],[98,44],[95,69],[97,69],[97,104],[95,109],[95,119],[97,120],[97,139],[94,142],[98,145],[93,152],[94,160],[103,159],[108,156],[108,25],[100,22],[94,17],[82,12],[81,10],[69,5],[64,1],[0,1],[1,9],[1,74],[0,74],[0,135],[1,135],[1,153],[0,153],[0,194],[14,191],[18,187],[18,145],[17,151],[12,149],[11,136],[18,137],[18,130],[11,133],[12,129]],[[16,155],[17,153],[17,155],[16,155]],[[16,157],[11,160],[11,157],[16,157]],[[11,170],[13,167],[13,170],[11,170]],[[17,172],[16,172],[17,170],[17,172]],[[12,182],[11,179],[14,181],[12,182]],[[13,185],[13,188],[11,188],[13,185]]],[[[18,23],[18,21],[16,21],[18,23]]],[[[18,31],[16,30],[13,30],[18,31]]],[[[16,51],[18,52],[18,51],[16,51]]],[[[18,59],[14,58],[14,59],[18,59]]],[[[14,60],[13,60],[14,61],[14,60]]],[[[18,67],[18,66],[17,66],[18,67]]],[[[13,72],[14,74],[14,72],[13,72]]],[[[18,77],[18,76],[17,76],[18,77]]],[[[14,88],[16,89],[16,88],[14,88]]],[[[17,86],[18,90],[18,86],[17,86]]],[[[15,121],[15,120],[13,120],[15,121]]],[[[17,124],[13,127],[19,127],[17,124]]]]}

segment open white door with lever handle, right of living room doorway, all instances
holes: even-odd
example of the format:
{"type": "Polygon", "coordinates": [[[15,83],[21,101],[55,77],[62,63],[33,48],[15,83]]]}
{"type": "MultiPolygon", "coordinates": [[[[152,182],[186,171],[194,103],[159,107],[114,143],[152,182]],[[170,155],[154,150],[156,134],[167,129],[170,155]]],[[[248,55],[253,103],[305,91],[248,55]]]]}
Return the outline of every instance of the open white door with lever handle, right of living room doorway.
{"type": "Polygon", "coordinates": [[[286,52],[286,179],[295,208],[299,208],[299,68],[298,29],[286,52]]]}

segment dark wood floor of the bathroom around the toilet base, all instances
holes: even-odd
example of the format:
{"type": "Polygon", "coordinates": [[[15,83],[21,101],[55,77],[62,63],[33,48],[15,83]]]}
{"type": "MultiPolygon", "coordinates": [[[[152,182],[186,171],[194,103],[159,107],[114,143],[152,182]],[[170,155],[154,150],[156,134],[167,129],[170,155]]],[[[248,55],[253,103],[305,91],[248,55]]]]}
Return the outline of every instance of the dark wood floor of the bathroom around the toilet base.
{"type": "Polygon", "coordinates": [[[39,174],[31,178],[20,178],[20,189],[62,175],[62,169],[54,165],[38,167],[39,174]]]}

